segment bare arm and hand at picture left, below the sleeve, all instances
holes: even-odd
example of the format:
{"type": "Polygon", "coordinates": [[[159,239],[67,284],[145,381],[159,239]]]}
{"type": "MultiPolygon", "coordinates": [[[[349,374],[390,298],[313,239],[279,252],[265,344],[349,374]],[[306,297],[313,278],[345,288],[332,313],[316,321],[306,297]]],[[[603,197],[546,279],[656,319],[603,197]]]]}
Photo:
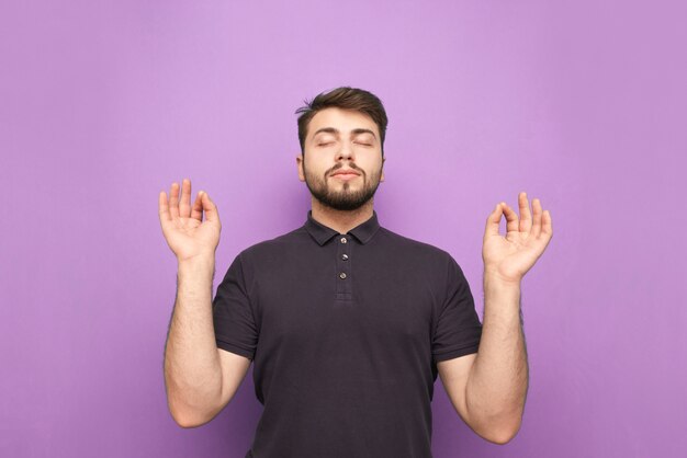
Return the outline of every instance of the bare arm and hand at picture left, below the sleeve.
{"type": "Polygon", "coordinates": [[[177,256],[177,298],[165,345],[165,389],[181,427],[210,422],[233,399],[250,359],[217,348],[212,319],[215,250],[222,225],[207,193],[191,206],[191,181],[159,195],[162,233],[177,256]],[[181,196],[179,195],[181,191],[181,196]]]}

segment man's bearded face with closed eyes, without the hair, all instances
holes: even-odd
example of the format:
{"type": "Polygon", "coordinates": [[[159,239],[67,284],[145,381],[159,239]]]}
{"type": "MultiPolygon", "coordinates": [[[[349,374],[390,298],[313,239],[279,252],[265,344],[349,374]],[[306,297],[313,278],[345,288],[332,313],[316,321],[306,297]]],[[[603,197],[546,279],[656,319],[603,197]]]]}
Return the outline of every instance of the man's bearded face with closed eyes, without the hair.
{"type": "Polygon", "coordinates": [[[360,112],[335,107],[318,112],[307,127],[304,150],[304,157],[296,157],[299,179],[327,207],[360,208],[384,181],[379,129],[360,112]]]}

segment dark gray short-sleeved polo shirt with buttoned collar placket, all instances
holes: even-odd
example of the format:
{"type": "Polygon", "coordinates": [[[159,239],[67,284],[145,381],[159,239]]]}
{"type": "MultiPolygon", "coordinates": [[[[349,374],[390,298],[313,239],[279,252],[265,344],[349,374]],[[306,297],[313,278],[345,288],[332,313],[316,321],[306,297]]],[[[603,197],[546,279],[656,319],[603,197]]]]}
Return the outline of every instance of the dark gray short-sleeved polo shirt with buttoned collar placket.
{"type": "Polygon", "coordinates": [[[463,272],[376,211],[340,234],[312,217],[240,252],[213,300],[217,346],[254,360],[252,458],[430,458],[436,362],[475,353],[463,272]]]}

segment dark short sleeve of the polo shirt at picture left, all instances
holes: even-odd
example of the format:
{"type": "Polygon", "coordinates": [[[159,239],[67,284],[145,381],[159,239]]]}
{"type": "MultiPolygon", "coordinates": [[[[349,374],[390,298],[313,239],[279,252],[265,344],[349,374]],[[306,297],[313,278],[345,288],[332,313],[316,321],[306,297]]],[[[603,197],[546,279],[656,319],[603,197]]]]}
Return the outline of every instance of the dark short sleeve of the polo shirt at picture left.
{"type": "Polygon", "coordinates": [[[254,359],[258,329],[246,289],[240,254],[217,287],[212,311],[217,347],[254,359]]]}

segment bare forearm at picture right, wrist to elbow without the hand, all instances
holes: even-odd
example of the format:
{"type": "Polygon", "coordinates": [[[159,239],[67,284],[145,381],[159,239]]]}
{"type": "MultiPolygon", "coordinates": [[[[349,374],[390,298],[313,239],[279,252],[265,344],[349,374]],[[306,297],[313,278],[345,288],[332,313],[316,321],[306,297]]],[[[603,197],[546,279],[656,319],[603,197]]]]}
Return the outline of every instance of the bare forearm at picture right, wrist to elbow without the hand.
{"type": "Polygon", "coordinates": [[[520,285],[485,275],[484,301],[482,340],[465,388],[466,408],[475,431],[495,432],[507,442],[520,427],[528,388],[520,285]]]}

